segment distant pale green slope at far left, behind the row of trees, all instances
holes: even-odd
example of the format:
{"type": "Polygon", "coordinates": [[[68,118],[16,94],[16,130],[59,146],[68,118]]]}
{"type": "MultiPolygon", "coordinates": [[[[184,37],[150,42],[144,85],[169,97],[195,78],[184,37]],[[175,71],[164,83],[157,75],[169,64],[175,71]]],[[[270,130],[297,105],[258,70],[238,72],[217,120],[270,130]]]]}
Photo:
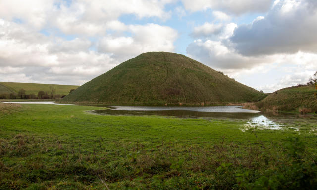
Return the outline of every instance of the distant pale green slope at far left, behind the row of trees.
{"type": "Polygon", "coordinates": [[[12,82],[0,82],[0,94],[10,93],[10,92],[19,92],[20,89],[24,89],[26,94],[34,93],[38,94],[39,91],[49,92],[50,86],[54,86],[56,89],[56,94],[68,95],[71,89],[76,89],[78,86],[75,85],[53,85],[53,84],[38,84],[38,83],[12,83],[12,82]],[[3,87],[3,88],[1,88],[3,87]],[[5,89],[9,89],[8,90],[5,89]]]}

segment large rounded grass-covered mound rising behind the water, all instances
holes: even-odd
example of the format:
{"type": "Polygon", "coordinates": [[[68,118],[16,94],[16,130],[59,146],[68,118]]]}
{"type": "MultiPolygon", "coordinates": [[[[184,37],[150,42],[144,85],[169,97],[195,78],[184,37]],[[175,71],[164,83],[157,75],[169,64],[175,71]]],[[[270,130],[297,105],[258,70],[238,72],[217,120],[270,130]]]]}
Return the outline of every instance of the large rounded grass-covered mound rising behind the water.
{"type": "Polygon", "coordinates": [[[148,52],[80,86],[63,101],[208,104],[256,101],[263,95],[184,55],[148,52]]]}

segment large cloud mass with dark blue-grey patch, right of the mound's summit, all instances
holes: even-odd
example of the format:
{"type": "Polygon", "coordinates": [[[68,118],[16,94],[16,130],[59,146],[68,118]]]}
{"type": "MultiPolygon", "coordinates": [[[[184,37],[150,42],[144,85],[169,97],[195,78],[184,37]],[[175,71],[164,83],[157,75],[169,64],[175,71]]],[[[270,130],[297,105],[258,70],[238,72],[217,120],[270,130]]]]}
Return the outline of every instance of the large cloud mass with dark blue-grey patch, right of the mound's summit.
{"type": "Polygon", "coordinates": [[[217,35],[207,25],[194,28],[193,34],[200,35],[193,35],[198,39],[188,45],[187,54],[258,90],[273,92],[306,83],[317,71],[313,23],[317,1],[276,0],[265,16],[250,24],[223,25],[217,35]]]}

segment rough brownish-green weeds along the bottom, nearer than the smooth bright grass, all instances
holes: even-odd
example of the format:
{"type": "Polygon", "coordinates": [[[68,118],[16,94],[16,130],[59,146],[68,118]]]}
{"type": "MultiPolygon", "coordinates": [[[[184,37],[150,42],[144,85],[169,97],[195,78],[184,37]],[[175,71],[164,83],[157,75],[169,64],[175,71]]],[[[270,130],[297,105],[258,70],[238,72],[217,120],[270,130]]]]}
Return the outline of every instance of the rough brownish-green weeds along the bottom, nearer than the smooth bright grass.
{"type": "Polygon", "coordinates": [[[0,189],[313,189],[316,160],[297,137],[271,145],[225,137],[81,145],[18,134],[0,139],[0,189]]]}

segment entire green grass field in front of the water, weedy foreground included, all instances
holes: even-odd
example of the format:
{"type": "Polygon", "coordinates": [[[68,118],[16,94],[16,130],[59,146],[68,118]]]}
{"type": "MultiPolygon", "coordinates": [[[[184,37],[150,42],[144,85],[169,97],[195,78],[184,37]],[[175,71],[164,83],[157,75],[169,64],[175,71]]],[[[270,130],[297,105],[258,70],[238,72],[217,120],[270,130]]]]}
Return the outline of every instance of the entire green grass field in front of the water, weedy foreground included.
{"type": "MultiPolygon", "coordinates": [[[[316,120],[300,131],[245,121],[100,116],[88,106],[0,112],[0,189],[312,189],[316,120]],[[300,133],[300,135],[299,135],[300,133]]],[[[314,161],[315,160],[315,161],[314,161]]]]}

